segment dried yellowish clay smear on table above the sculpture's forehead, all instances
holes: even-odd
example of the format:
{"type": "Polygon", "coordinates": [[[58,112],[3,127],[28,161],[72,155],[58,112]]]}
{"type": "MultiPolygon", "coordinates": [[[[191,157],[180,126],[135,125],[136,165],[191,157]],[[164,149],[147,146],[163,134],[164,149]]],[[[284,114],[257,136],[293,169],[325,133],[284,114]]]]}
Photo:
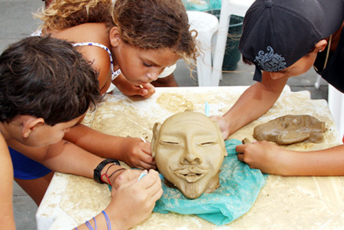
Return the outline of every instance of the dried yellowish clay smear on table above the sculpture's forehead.
{"type": "Polygon", "coordinates": [[[192,111],[195,109],[193,103],[186,100],[186,98],[180,94],[161,94],[156,99],[156,103],[173,113],[184,112],[186,109],[192,111]]]}

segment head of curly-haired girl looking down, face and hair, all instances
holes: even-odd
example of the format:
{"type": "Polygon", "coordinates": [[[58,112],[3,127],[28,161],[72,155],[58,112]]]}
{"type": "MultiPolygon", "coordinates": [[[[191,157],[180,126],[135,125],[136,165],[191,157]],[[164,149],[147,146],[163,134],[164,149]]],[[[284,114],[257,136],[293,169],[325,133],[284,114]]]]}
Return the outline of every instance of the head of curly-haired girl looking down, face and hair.
{"type": "Polygon", "coordinates": [[[178,59],[195,59],[195,37],[182,1],[117,0],[112,17],[111,52],[132,85],[155,81],[178,59]]]}

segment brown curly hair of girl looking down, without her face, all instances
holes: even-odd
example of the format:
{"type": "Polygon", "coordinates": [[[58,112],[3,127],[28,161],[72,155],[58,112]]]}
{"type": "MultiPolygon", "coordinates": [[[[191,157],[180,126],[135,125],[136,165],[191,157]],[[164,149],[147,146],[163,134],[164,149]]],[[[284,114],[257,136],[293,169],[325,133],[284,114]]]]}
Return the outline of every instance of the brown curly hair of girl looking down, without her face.
{"type": "Polygon", "coordinates": [[[184,59],[195,57],[195,39],[182,1],[117,0],[112,17],[125,43],[143,50],[169,48],[184,59]]]}

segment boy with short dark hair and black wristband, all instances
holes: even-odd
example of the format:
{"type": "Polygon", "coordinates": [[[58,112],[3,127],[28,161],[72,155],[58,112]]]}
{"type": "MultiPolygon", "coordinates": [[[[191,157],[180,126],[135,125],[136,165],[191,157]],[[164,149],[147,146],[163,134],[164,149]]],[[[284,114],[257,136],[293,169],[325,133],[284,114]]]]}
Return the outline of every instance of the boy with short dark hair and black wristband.
{"type": "MultiPolygon", "coordinates": [[[[125,170],[116,165],[117,160],[104,160],[62,140],[89,105],[95,106],[100,101],[97,77],[72,44],[51,37],[28,37],[1,54],[0,229],[15,229],[14,170],[8,147],[18,151],[32,147],[35,151],[30,157],[54,171],[94,177],[113,186],[109,206],[78,229],[89,229],[88,226],[111,229],[111,223],[116,223],[119,229],[128,229],[153,210],[162,195],[156,171],[150,170],[138,181],[140,171],[125,170]],[[60,151],[47,152],[47,145],[55,145],[60,151]]],[[[17,167],[34,165],[19,163],[17,167]]],[[[37,178],[36,186],[45,190],[43,179],[37,178]]]]}

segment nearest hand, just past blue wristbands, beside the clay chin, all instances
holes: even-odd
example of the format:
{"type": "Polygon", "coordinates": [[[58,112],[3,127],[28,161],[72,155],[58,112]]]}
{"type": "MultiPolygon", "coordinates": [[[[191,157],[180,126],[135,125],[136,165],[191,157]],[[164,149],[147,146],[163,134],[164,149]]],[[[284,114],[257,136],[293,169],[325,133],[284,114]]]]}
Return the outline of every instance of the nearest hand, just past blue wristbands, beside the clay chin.
{"type": "MultiPolygon", "coordinates": [[[[162,196],[161,180],[157,171],[149,173],[138,181],[138,176],[131,178],[127,169],[116,180],[116,186],[111,190],[111,202],[105,209],[110,222],[116,224],[116,229],[129,229],[149,217],[155,206],[155,201],[162,196]],[[128,180],[131,178],[130,180],[128,180]]],[[[137,171],[137,170],[135,170],[137,171]]]]}

